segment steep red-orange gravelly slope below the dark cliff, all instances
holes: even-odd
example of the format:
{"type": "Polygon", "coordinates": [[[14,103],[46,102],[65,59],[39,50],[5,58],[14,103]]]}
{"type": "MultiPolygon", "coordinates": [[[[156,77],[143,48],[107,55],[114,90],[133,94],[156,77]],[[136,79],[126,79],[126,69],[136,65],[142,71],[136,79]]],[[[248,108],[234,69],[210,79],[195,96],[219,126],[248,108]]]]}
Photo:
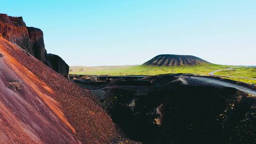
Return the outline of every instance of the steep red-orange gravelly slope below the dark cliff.
{"type": "Polygon", "coordinates": [[[88,91],[0,36],[0,144],[110,144],[118,137],[88,91]]]}

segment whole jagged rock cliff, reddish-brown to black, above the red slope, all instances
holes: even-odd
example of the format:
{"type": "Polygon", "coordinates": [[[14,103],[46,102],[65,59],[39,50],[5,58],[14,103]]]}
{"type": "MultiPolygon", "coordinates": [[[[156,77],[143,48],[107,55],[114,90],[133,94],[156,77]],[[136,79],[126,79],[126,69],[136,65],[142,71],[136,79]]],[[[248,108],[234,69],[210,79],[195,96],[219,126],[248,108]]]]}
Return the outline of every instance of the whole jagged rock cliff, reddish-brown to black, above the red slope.
{"type": "MultiPolygon", "coordinates": [[[[53,63],[50,62],[45,49],[43,31],[39,28],[27,27],[22,17],[0,14],[0,36],[17,44],[56,72],[67,77],[69,67],[63,59],[58,59],[57,64],[64,64],[64,66],[53,67],[53,63]]],[[[57,57],[57,55],[54,56],[57,57]]]]}

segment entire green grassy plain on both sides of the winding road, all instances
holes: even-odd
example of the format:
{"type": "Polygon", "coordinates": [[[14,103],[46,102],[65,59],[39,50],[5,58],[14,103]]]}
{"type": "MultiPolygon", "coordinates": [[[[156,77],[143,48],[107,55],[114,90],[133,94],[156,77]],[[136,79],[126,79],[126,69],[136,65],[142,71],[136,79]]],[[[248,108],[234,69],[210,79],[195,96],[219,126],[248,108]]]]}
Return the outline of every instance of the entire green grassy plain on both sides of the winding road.
{"type": "MultiPolygon", "coordinates": [[[[220,69],[227,69],[234,66],[201,64],[194,66],[146,66],[146,65],[126,65],[126,66],[98,66],[98,67],[71,67],[69,74],[83,75],[157,75],[166,73],[192,73],[198,75],[209,75],[210,72],[220,69]]],[[[256,78],[256,68],[238,67],[231,70],[215,72],[216,75],[237,76],[246,78],[256,78]]],[[[256,83],[256,80],[226,78],[234,81],[242,81],[249,84],[256,83]]]]}

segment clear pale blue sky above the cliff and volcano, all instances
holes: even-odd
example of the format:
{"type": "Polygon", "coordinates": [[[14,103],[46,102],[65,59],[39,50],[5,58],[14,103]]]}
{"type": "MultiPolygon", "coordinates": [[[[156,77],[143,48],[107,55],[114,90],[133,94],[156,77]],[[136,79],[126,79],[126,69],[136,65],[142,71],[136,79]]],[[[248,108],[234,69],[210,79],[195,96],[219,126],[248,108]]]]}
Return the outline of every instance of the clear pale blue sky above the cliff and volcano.
{"type": "Polygon", "coordinates": [[[256,0],[0,0],[43,30],[69,65],[134,65],[158,54],[256,65],[256,0]]]}

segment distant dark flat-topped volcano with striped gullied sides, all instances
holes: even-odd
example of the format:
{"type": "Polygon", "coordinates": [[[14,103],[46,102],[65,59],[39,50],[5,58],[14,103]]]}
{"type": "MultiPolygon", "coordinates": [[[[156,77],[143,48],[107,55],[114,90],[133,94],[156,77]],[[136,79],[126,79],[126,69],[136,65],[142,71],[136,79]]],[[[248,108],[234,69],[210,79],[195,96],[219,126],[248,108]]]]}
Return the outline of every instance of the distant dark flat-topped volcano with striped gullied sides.
{"type": "Polygon", "coordinates": [[[143,65],[155,66],[181,66],[181,65],[198,65],[210,64],[209,62],[193,56],[193,55],[176,55],[176,54],[160,54],[151,60],[143,63],[143,65]]]}

